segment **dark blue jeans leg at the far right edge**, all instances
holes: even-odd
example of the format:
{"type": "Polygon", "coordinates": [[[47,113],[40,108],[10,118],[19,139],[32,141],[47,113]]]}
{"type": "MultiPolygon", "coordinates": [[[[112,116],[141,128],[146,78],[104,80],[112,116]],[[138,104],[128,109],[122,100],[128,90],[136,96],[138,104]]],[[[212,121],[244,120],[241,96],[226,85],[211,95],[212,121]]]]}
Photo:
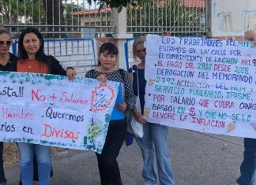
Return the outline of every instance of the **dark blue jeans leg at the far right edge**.
{"type": "Polygon", "coordinates": [[[256,139],[244,139],[243,162],[240,166],[239,185],[253,185],[256,170],[256,139]]]}

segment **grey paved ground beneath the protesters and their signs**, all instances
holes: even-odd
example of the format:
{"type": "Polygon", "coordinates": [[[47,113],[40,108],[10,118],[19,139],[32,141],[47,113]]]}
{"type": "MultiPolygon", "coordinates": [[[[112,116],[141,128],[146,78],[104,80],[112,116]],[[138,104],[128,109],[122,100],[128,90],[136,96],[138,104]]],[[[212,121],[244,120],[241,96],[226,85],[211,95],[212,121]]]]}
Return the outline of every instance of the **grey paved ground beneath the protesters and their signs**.
{"type": "MultiPolygon", "coordinates": [[[[177,185],[230,185],[239,176],[243,139],[170,128],[169,152],[177,185]]],[[[67,150],[52,156],[51,185],[98,185],[93,152],[67,150]]],[[[143,184],[141,153],[134,141],[122,146],[119,166],[125,185],[143,184]]],[[[18,165],[6,166],[7,185],[17,185],[18,165]]]]}

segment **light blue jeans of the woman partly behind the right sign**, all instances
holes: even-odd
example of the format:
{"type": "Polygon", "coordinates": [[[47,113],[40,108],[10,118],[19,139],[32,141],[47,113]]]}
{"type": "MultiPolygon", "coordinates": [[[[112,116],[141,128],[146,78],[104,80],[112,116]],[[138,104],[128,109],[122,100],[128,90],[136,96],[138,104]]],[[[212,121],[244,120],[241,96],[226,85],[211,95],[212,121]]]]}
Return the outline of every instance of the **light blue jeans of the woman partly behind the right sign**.
{"type": "Polygon", "coordinates": [[[144,165],[142,177],[145,185],[156,184],[156,169],[154,154],[156,154],[157,171],[161,185],[175,184],[171,170],[171,159],[168,154],[168,127],[160,124],[147,123],[143,125],[144,135],[136,138],[141,148],[144,165]]]}

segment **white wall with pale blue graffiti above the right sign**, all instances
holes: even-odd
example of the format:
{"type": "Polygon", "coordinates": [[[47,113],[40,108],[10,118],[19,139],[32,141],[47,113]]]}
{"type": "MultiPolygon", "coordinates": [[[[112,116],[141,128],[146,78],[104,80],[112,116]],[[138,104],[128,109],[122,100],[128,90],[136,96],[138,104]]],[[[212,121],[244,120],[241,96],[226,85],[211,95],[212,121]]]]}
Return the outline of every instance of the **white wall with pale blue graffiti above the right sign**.
{"type": "Polygon", "coordinates": [[[238,36],[256,29],[255,0],[211,0],[210,36],[238,36]]]}

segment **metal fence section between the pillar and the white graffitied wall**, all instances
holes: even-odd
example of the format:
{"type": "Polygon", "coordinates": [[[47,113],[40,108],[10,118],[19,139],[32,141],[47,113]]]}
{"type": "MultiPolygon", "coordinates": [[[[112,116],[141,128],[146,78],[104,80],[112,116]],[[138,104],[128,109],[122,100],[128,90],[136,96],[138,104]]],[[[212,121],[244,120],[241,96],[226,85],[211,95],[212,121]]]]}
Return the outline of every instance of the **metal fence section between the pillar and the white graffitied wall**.
{"type": "Polygon", "coordinates": [[[145,6],[127,8],[127,31],[134,35],[160,34],[205,35],[208,0],[152,0],[145,6]]]}

